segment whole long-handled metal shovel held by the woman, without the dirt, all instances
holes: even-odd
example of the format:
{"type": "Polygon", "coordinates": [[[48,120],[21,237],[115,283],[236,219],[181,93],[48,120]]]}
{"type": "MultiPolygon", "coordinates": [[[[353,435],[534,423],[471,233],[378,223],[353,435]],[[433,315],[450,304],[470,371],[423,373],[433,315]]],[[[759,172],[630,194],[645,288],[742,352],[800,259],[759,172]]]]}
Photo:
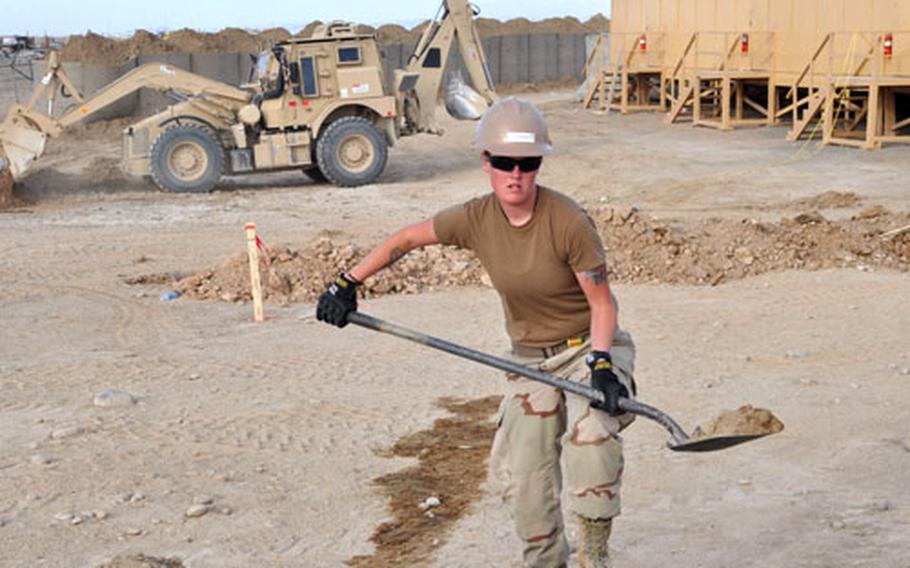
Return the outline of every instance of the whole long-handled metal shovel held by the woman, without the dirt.
{"type": "MultiPolygon", "coordinates": [[[[578,396],[583,396],[590,400],[595,400],[598,402],[603,402],[604,400],[602,392],[587,385],[575,383],[557,377],[555,375],[551,375],[549,373],[544,373],[536,369],[524,367],[507,359],[502,359],[500,357],[489,355],[487,353],[481,353],[480,351],[475,351],[468,347],[462,347],[461,345],[456,345],[443,339],[420,333],[419,331],[413,331],[399,325],[383,321],[379,318],[368,316],[362,312],[351,312],[348,314],[348,322],[375,331],[380,331],[382,333],[388,333],[402,339],[408,339],[415,343],[420,343],[421,345],[426,345],[427,347],[445,351],[446,353],[457,355],[458,357],[462,357],[464,359],[470,359],[471,361],[494,367],[501,371],[515,373],[516,375],[521,375],[531,380],[539,381],[552,387],[577,394],[578,396]]],[[[654,420],[666,428],[666,430],[673,437],[673,442],[668,442],[667,447],[676,452],[711,452],[715,450],[722,450],[724,448],[742,444],[743,442],[749,442],[751,440],[755,440],[767,435],[750,434],[694,438],[689,434],[686,434],[685,430],[683,430],[680,425],[677,424],[675,420],[673,420],[673,418],[658,410],[657,408],[654,408],[653,406],[648,406],[647,404],[631,400],[629,398],[620,398],[619,408],[626,412],[631,412],[632,414],[650,418],[651,420],[654,420]]]]}

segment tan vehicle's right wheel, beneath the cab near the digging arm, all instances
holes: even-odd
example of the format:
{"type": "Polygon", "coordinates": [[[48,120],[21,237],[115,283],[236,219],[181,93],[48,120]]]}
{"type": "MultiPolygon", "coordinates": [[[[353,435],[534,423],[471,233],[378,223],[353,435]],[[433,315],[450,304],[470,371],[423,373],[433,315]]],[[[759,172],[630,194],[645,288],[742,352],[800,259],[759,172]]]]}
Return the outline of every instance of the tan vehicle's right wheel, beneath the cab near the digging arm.
{"type": "Polygon", "coordinates": [[[333,121],[316,142],[319,170],[330,182],[342,187],[375,181],[388,157],[385,135],[359,116],[333,121]]]}

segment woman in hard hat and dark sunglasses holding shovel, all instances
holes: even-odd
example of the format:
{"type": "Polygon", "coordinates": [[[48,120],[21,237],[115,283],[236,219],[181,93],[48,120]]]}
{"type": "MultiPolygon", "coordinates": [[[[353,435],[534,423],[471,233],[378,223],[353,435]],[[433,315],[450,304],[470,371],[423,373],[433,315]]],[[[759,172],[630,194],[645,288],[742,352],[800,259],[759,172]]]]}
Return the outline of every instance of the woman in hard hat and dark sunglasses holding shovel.
{"type": "Polygon", "coordinates": [[[416,247],[442,243],[473,250],[502,300],[509,357],[590,383],[604,395],[603,403],[591,403],[507,374],[510,392],[492,463],[508,484],[524,563],[547,568],[567,563],[561,456],[567,506],[578,519],[580,563],[603,567],[612,520],[620,512],[619,431],[632,421],[618,401],[634,393],[635,347],[617,328],[594,223],[572,199],[537,185],[551,150],[537,108],[515,97],[497,102],[477,125],[475,142],[493,191],[392,234],[328,287],[317,317],[344,327],[357,310],[360,283],[416,247]]]}

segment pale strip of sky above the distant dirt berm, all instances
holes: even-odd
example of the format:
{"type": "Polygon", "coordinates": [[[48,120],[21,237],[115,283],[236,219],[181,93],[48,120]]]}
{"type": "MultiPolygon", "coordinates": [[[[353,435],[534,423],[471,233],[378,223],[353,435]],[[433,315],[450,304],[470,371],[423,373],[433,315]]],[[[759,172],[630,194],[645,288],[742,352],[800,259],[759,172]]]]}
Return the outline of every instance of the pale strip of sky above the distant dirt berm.
{"type": "MultiPolygon", "coordinates": [[[[508,20],[541,20],[575,16],[584,21],[601,12],[609,17],[611,0],[476,0],[480,15],[508,20]]],[[[312,20],[350,20],[406,27],[432,18],[438,0],[25,0],[4,2],[0,35],[51,36],[81,34],[132,35],[136,29],[153,32],[194,28],[218,31],[225,27],[265,29],[275,26],[297,32],[312,20]]]]}

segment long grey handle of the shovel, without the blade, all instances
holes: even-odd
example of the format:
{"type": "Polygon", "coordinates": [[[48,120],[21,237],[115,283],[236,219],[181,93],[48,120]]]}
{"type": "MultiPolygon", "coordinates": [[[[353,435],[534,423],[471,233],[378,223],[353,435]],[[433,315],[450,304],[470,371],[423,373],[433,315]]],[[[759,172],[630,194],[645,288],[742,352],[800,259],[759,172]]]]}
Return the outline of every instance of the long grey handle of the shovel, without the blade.
{"type": "MultiPolygon", "coordinates": [[[[515,373],[516,375],[521,375],[527,377],[533,381],[538,381],[551,387],[562,389],[564,391],[570,392],[572,394],[577,394],[578,396],[583,396],[589,400],[603,402],[604,395],[597,389],[589,387],[588,385],[583,385],[581,383],[576,383],[573,381],[568,381],[561,377],[551,375],[549,373],[544,373],[543,371],[538,371],[537,369],[531,369],[518,363],[509,361],[508,359],[503,359],[501,357],[496,357],[488,353],[482,353],[476,351],[469,347],[463,347],[455,343],[451,343],[444,339],[439,339],[438,337],[433,337],[432,335],[427,335],[419,331],[414,331],[400,325],[396,325],[391,322],[381,320],[379,318],[374,318],[362,312],[351,312],[348,314],[348,322],[367,329],[372,329],[374,331],[379,331],[382,333],[388,333],[402,339],[407,339],[415,343],[420,343],[421,345],[426,345],[427,347],[432,347],[433,349],[438,349],[440,351],[445,351],[452,355],[456,355],[463,359],[469,359],[476,363],[481,363],[487,365],[488,367],[493,367],[501,371],[506,371],[507,373],[515,373]]],[[[679,424],[676,423],[673,418],[671,418],[666,413],[649,406],[642,402],[632,400],[629,398],[620,398],[619,407],[626,412],[631,412],[632,414],[638,414],[644,416],[645,418],[650,418],[654,420],[661,426],[667,429],[670,432],[670,435],[673,436],[673,439],[677,444],[685,443],[689,440],[689,436],[686,434],[679,424]]]]}

